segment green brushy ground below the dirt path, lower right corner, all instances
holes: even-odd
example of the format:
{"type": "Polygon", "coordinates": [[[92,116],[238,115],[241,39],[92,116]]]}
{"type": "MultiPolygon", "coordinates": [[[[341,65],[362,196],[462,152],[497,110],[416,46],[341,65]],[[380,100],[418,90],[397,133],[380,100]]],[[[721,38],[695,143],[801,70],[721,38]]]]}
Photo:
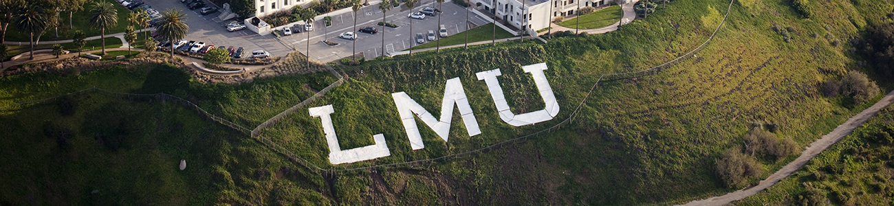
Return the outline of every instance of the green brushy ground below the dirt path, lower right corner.
{"type": "Polygon", "coordinates": [[[805,185],[811,185],[837,205],[890,205],[894,146],[886,137],[894,133],[892,125],[894,107],[889,106],[791,177],[735,204],[800,204],[809,196],[805,185]]]}

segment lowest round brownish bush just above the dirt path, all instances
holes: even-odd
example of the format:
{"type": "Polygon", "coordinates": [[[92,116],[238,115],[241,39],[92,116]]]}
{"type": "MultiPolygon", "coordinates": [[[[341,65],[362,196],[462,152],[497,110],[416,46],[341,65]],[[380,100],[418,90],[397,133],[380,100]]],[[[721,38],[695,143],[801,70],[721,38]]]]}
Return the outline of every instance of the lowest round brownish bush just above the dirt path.
{"type": "Polygon", "coordinates": [[[758,177],[763,173],[763,165],[738,149],[723,152],[721,159],[715,161],[717,173],[723,183],[730,187],[740,187],[748,178],[758,177]]]}

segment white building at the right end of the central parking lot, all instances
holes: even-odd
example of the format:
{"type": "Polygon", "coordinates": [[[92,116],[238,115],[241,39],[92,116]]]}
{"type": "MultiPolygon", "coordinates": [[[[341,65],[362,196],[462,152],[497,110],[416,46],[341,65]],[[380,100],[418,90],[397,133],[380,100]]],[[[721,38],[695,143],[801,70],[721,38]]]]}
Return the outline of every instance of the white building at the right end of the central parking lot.
{"type": "Polygon", "coordinates": [[[614,0],[471,0],[478,10],[491,12],[515,28],[534,31],[549,27],[556,17],[577,13],[578,4],[583,3],[580,8],[597,7],[611,1],[614,0]]]}

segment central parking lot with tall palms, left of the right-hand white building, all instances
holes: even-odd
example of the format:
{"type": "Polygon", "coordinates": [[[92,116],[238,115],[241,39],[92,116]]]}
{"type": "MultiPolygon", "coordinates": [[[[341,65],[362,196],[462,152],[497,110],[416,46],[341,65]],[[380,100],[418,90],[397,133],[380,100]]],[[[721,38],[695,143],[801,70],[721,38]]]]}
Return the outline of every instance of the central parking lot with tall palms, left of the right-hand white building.
{"type": "MultiPolygon", "coordinates": [[[[417,12],[426,6],[437,8],[437,3],[434,0],[422,1],[412,11],[417,12]]],[[[358,33],[357,30],[352,28],[354,25],[353,12],[333,14],[333,24],[328,28],[324,28],[325,24],[323,21],[315,21],[314,30],[310,32],[310,57],[321,62],[332,62],[350,56],[351,40],[338,37],[339,34],[347,31],[357,33],[357,53],[363,53],[367,59],[382,56],[383,52],[400,52],[418,45],[414,39],[417,33],[426,35],[428,30],[434,30],[435,33],[438,32],[438,16],[426,16],[423,20],[415,20],[407,17],[409,12],[409,9],[403,5],[386,12],[386,21],[397,25],[398,28],[385,27],[385,51],[382,49],[382,26],[376,25],[376,23],[382,21],[382,11],[378,9],[377,4],[364,6],[357,12],[357,29],[373,26],[375,29],[378,29],[378,33],[375,35],[358,33]],[[409,33],[409,21],[413,21],[412,34],[409,33]],[[325,35],[326,30],[328,30],[328,35],[325,35]],[[326,45],[323,43],[324,39],[339,43],[339,45],[326,45]]],[[[465,22],[466,10],[459,5],[452,4],[449,1],[445,2],[442,6],[442,13],[438,15],[441,16],[441,24],[447,29],[449,35],[465,31],[468,27],[465,22]]],[[[475,17],[476,14],[473,12],[469,12],[468,15],[469,21],[475,22],[480,20],[475,17]]],[[[480,22],[480,24],[486,23],[484,21],[480,22]]],[[[478,22],[476,24],[480,25],[478,22]]],[[[291,36],[283,37],[283,40],[295,46],[299,52],[305,53],[308,48],[307,37],[308,34],[306,33],[295,33],[291,36]]],[[[427,42],[429,41],[426,40],[427,42]]]]}

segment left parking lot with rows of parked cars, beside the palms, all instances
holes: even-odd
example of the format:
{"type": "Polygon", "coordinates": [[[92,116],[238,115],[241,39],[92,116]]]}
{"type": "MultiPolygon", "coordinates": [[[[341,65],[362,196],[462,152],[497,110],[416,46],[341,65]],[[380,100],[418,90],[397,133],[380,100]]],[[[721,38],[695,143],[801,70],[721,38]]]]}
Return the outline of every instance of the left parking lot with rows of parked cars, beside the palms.
{"type": "MultiPolygon", "coordinates": [[[[243,47],[243,57],[249,56],[251,51],[265,50],[272,56],[284,56],[291,52],[291,49],[276,41],[272,35],[259,36],[249,29],[242,29],[235,32],[227,31],[223,26],[229,21],[215,21],[220,12],[209,13],[207,16],[200,15],[197,10],[190,10],[186,5],[181,4],[179,0],[144,0],[146,4],[152,6],[159,12],[163,12],[168,8],[174,10],[182,10],[186,13],[186,24],[190,26],[185,40],[195,40],[196,42],[205,42],[206,45],[215,46],[233,46],[234,48],[243,47]]],[[[211,2],[205,1],[208,6],[215,6],[211,2]]],[[[231,20],[232,21],[232,20],[231,20]]]]}

